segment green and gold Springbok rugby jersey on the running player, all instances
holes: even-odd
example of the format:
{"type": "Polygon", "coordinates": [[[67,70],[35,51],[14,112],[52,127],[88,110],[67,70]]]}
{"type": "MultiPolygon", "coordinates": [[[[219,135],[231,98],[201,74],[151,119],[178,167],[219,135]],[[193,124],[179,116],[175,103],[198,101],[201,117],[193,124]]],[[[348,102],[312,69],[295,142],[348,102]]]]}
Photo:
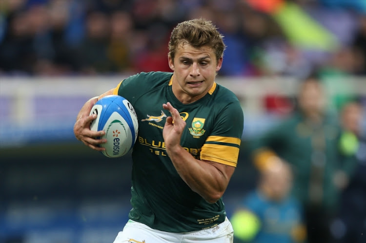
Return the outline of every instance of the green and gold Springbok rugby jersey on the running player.
{"type": "Polygon", "coordinates": [[[173,73],[140,73],[114,90],[136,110],[139,133],[133,147],[131,220],[166,232],[189,232],[224,222],[223,200],[207,203],[182,180],[163,140],[170,102],[186,122],[181,145],[196,159],[236,167],[243,133],[243,110],[234,93],[214,83],[200,100],[182,104],[173,94],[173,73]]]}

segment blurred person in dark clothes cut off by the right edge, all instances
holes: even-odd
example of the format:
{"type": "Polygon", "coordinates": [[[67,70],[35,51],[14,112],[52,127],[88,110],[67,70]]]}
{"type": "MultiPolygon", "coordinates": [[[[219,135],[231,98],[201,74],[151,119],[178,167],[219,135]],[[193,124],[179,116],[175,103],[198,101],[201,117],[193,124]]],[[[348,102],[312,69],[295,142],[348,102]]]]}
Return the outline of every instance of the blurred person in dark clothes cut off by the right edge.
{"type": "Polygon", "coordinates": [[[355,153],[358,163],[342,194],[339,221],[333,224],[337,243],[366,242],[366,137],[361,127],[363,112],[363,107],[356,101],[347,103],[341,111],[344,132],[340,148],[344,153],[355,153]]]}

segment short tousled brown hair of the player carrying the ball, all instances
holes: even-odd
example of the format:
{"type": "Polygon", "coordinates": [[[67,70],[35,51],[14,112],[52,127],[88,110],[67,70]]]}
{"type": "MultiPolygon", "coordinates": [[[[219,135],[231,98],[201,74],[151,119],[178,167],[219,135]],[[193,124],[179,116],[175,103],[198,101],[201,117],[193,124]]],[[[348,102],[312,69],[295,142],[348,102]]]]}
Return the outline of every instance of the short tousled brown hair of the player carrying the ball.
{"type": "Polygon", "coordinates": [[[174,60],[178,45],[188,43],[193,47],[211,47],[216,55],[216,60],[224,55],[226,48],[221,35],[216,26],[206,19],[191,19],[179,23],[172,31],[169,40],[168,56],[174,60]]]}

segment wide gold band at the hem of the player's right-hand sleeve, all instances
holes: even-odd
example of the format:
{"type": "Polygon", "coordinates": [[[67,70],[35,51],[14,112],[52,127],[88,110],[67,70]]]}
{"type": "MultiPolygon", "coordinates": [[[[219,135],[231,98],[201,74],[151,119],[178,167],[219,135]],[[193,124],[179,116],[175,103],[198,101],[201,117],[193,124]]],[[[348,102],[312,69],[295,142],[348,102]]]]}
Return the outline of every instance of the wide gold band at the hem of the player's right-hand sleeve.
{"type": "Polygon", "coordinates": [[[236,167],[238,157],[239,148],[226,145],[204,144],[201,150],[201,160],[214,161],[232,167],[236,167]]]}

